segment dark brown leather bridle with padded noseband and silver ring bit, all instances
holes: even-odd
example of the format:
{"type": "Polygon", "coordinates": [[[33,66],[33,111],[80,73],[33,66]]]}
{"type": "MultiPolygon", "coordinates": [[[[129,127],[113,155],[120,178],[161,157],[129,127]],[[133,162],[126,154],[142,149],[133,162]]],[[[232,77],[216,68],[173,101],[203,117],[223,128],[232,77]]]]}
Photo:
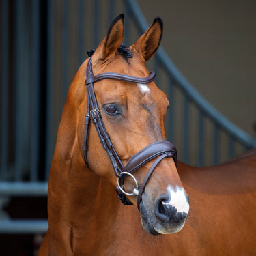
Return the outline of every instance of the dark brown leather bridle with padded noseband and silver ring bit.
{"type": "Polygon", "coordinates": [[[147,147],[144,147],[142,150],[134,154],[130,158],[126,166],[124,166],[119,156],[117,155],[117,152],[115,151],[113,144],[111,143],[109,134],[106,132],[106,129],[104,127],[100,110],[98,108],[96,96],[94,93],[94,83],[102,79],[118,79],[118,80],[129,81],[132,83],[145,84],[145,83],[152,82],[154,80],[154,77],[156,76],[156,73],[153,71],[150,73],[150,76],[147,76],[144,78],[139,78],[136,76],[128,76],[125,74],[112,73],[112,72],[106,72],[106,73],[102,73],[94,76],[92,72],[91,61],[92,60],[90,57],[87,63],[86,80],[85,80],[85,85],[87,87],[87,114],[85,115],[83,158],[85,160],[87,167],[89,168],[89,163],[87,160],[87,149],[88,149],[87,135],[88,135],[89,122],[91,120],[97,130],[98,137],[100,138],[100,142],[102,143],[104,150],[106,150],[106,153],[109,156],[109,159],[111,161],[112,167],[115,172],[115,176],[117,177],[116,191],[119,199],[122,201],[122,203],[126,205],[132,205],[132,203],[128,200],[126,195],[137,195],[138,196],[137,208],[139,210],[141,195],[143,193],[145,185],[147,184],[147,180],[150,178],[150,175],[156,168],[156,165],[158,165],[158,163],[162,159],[171,156],[175,162],[175,165],[177,166],[177,150],[175,146],[169,141],[156,141],[154,143],[151,143],[150,145],[147,145],[147,147]],[[147,175],[145,176],[141,186],[139,186],[136,178],[134,177],[134,175],[132,175],[132,173],[137,169],[139,169],[139,167],[141,167],[142,165],[145,165],[146,162],[149,162],[154,158],[157,158],[156,161],[154,162],[150,170],[147,172],[147,175]],[[132,179],[136,184],[136,187],[132,190],[132,193],[127,193],[124,190],[124,179],[128,176],[132,177],[132,179]]]}

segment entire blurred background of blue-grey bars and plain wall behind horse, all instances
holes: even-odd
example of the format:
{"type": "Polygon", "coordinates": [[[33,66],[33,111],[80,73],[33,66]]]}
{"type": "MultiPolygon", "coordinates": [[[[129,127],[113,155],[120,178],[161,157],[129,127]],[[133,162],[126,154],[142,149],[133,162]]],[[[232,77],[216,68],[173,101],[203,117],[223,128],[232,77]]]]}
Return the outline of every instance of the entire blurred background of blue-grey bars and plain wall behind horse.
{"type": "Polygon", "coordinates": [[[180,160],[215,165],[256,145],[255,1],[1,0],[0,10],[1,255],[36,255],[68,87],[122,12],[128,46],[164,21],[147,67],[169,98],[180,160]]]}

